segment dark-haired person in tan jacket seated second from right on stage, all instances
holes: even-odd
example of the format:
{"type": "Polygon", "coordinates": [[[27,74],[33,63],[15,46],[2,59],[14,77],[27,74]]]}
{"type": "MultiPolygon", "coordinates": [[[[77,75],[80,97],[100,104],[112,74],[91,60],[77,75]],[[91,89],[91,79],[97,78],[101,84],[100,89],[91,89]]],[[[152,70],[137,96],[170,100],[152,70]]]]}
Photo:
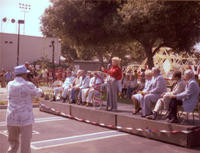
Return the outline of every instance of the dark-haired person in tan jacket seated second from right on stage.
{"type": "Polygon", "coordinates": [[[171,94],[176,95],[185,90],[186,83],[184,80],[181,79],[181,71],[175,71],[173,73],[172,79],[176,81],[172,91],[164,93],[163,97],[158,99],[158,101],[156,102],[156,105],[154,107],[154,110],[153,110],[153,115],[148,116],[148,119],[155,120],[157,118],[158,112],[162,109],[163,106],[164,106],[165,110],[168,110],[169,102],[170,102],[169,95],[171,95],[171,94]]]}

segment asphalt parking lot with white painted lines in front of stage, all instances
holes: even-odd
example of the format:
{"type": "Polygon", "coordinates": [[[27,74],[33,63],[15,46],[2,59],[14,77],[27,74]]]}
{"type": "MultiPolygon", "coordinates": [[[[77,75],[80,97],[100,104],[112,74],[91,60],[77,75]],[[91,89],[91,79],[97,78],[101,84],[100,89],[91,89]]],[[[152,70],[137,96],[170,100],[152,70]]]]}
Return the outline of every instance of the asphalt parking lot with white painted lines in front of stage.
{"type": "MultiPolygon", "coordinates": [[[[0,110],[0,153],[6,153],[5,109],[0,110]]],[[[121,133],[40,112],[34,108],[32,153],[199,153],[175,145],[121,133]]],[[[199,140],[198,140],[199,141],[199,140]]],[[[19,152],[18,152],[19,153],[19,152]]]]}

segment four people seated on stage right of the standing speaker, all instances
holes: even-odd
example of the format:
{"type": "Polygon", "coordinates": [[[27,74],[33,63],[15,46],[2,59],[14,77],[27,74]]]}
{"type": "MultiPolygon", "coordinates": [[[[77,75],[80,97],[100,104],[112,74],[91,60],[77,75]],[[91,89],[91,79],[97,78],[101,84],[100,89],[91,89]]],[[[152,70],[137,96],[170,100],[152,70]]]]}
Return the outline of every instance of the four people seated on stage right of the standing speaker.
{"type": "Polygon", "coordinates": [[[135,106],[133,114],[141,111],[142,117],[156,120],[159,111],[164,109],[167,112],[164,119],[169,123],[177,123],[178,105],[183,107],[184,112],[192,112],[198,104],[199,84],[191,69],[184,72],[183,78],[180,71],[174,71],[172,77],[174,84],[168,91],[166,80],[160,74],[159,68],[146,70],[145,79],[144,89],[132,95],[135,106]]]}

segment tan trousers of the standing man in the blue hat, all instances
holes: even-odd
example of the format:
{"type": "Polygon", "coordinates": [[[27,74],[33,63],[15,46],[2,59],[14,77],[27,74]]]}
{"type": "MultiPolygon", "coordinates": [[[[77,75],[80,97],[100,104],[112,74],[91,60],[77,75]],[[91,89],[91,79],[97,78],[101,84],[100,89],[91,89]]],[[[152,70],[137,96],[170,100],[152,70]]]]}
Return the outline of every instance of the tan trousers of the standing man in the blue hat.
{"type": "Polygon", "coordinates": [[[17,153],[21,134],[21,153],[31,153],[32,124],[27,126],[7,126],[9,148],[7,153],[17,153]]]}

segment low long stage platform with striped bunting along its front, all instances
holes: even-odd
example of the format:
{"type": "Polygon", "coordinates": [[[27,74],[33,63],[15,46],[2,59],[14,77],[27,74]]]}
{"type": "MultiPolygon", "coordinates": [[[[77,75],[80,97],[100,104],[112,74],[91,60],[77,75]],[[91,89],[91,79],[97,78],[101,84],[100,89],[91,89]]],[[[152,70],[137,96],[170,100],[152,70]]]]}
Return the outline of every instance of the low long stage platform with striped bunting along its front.
{"type": "Polygon", "coordinates": [[[132,105],[118,104],[118,111],[106,111],[60,101],[40,102],[40,110],[81,122],[112,128],[123,132],[151,138],[184,147],[200,146],[200,124],[175,124],[165,120],[148,120],[140,115],[132,115],[132,105]]]}

